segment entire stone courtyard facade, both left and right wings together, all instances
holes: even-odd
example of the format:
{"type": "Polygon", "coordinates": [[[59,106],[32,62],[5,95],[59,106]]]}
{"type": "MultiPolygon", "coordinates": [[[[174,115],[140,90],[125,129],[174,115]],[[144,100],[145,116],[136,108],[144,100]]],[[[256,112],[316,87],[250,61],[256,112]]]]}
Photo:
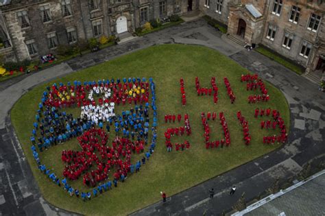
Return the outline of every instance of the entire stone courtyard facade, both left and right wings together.
{"type": "Polygon", "coordinates": [[[0,55],[14,61],[38,58],[55,53],[58,45],[132,33],[152,19],[191,10],[307,72],[324,67],[324,0],[6,0],[0,6],[0,55]]]}

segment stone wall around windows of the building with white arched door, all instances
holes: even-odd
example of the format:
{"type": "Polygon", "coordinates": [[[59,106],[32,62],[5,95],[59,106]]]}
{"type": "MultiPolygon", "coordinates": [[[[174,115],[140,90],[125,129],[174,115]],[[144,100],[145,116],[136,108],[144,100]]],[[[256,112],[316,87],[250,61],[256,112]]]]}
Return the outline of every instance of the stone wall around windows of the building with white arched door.
{"type": "MultiPolygon", "coordinates": [[[[64,17],[60,0],[13,0],[3,5],[0,10],[8,27],[12,43],[12,50],[18,60],[39,58],[47,53],[56,53],[56,49],[49,49],[47,34],[55,32],[59,45],[67,45],[67,28],[74,27],[77,38],[88,40],[94,37],[93,22],[101,21],[102,35],[117,34],[116,20],[125,16],[128,21],[128,32],[134,32],[140,27],[140,9],[148,7],[148,21],[159,17],[159,2],[161,0],[97,0],[98,8],[90,10],[88,0],[71,0],[72,15],[64,17]],[[49,5],[51,21],[43,23],[40,6],[49,5]],[[27,11],[30,26],[21,28],[17,12],[27,11]],[[29,56],[26,40],[34,40],[37,55],[29,56]]],[[[187,12],[187,0],[165,0],[167,15],[187,12]],[[186,1],[186,3],[184,3],[186,1]],[[176,4],[179,10],[176,10],[176,4]]],[[[101,36],[101,35],[100,35],[101,36]]],[[[100,37],[97,36],[97,37],[100,37]]]]}

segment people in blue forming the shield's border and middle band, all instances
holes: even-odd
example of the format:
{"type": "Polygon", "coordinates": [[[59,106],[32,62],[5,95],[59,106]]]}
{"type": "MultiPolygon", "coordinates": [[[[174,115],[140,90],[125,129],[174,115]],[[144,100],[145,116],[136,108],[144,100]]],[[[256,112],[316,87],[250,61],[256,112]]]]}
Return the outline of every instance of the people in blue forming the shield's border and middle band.
{"type": "MultiPolygon", "coordinates": [[[[136,82],[136,80],[140,80],[139,78],[123,78],[124,83],[136,82]]],[[[145,81],[145,78],[142,79],[145,81]]],[[[110,80],[108,82],[115,82],[114,80],[110,80]]],[[[75,81],[75,88],[82,85],[81,82],[75,81]]],[[[105,80],[99,80],[99,82],[88,82],[91,85],[95,86],[102,83],[107,83],[105,80]]],[[[57,87],[56,84],[54,86],[57,87]]],[[[62,83],[59,86],[64,86],[62,83]]],[[[69,86],[73,86],[69,82],[69,86]]],[[[115,126],[115,133],[117,136],[122,136],[122,139],[132,139],[141,143],[141,139],[144,139],[145,144],[148,142],[148,133],[149,133],[149,106],[153,110],[153,119],[152,119],[152,141],[148,147],[148,150],[145,151],[143,147],[139,145],[130,145],[129,151],[133,151],[139,154],[139,152],[143,152],[144,156],[142,160],[138,160],[135,164],[130,164],[128,166],[128,172],[136,173],[141,169],[141,165],[145,164],[145,160],[149,160],[149,157],[154,153],[154,148],[156,147],[156,126],[157,126],[157,108],[156,108],[156,86],[152,77],[149,78],[149,89],[152,93],[151,101],[145,103],[145,105],[135,106],[131,110],[126,110],[122,112],[122,115],[117,115],[110,119],[110,121],[106,122],[106,130],[110,132],[110,125],[115,126]],[[142,149],[141,149],[142,148],[142,149]]],[[[33,123],[32,136],[30,136],[30,141],[32,142],[32,154],[36,163],[38,165],[38,169],[42,173],[44,173],[54,184],[57,184],[58,187],[63,187],[64,191],[71,196],[75,195],[75,197],[81,197],[82,200],[91,200],[92,197],[96,197],[97,195],[109,191],[112,189],[112,186],[117,187],[118,182],[124,182],[126,178],[126,173],[121,173],[115,176],[114,180],[109,180],[109,178],[105,178],[104,181],[97,182],[99,184],[91,184],[93,187],[89,191],[80,191],[78,189],[74,189],[68,182],[67,178],[59,178],[59,176],[51,169],[51,167],[46,166],[40,161],[40,157],[38,154],[43,152],[45,149],[49,149],[55,145],[60,143],[64,143],[69,141],[70,139],[77,139],[78,136],[82,136],[88,130],[92,130],[95,127],[100,129],[104,128],[104,124],[99,122],[99,124],[95,124],[95,122],[91,121],[91,119],[81,118],[81,117],[73,117],[72,114],[67,114],[67,112],[60,112],[60,108],[49,106],[46,104],[47,97],[49,95],[48,91],[50,88],[47,88],[47,91],[44,91],[42,99],[38,104],[38,110],[35,116],[35,121],[33,123]]],[[[125,154],[128,156],[128,152],[120,152],[120,154],[125,154]]],[[[102,156],[103,157],[103,156],[102,156]]],[[[119,163],[116,161],[115,163],[119,163]]],[[[97,164],[98,165],[98,164],[97,164]]]]}

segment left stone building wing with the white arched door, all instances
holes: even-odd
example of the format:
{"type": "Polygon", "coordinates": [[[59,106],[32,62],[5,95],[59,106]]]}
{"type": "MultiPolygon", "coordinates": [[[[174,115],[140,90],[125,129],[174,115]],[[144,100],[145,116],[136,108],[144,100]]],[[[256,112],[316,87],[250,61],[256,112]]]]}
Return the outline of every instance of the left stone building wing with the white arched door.
{"type": "Polygon", "coordinates": [[[2,0],[0,55],[12,61],[33,59],[55,53],[58,45],[72,45],[81,38],[132,33],[152,19],[187,12],[187,3],[188,0],[2,0]]]}

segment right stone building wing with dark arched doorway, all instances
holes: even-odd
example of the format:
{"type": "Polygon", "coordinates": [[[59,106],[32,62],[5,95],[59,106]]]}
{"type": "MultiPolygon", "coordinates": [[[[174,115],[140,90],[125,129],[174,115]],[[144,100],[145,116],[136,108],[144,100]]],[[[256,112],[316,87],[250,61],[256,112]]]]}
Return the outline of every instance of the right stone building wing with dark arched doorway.
{"type": "Polygon", "coordinates": [[[237,42],[262,44],[306,72],[324,68],[325,1],[200,0],[200,10],[227,25],[237,42]]]}

